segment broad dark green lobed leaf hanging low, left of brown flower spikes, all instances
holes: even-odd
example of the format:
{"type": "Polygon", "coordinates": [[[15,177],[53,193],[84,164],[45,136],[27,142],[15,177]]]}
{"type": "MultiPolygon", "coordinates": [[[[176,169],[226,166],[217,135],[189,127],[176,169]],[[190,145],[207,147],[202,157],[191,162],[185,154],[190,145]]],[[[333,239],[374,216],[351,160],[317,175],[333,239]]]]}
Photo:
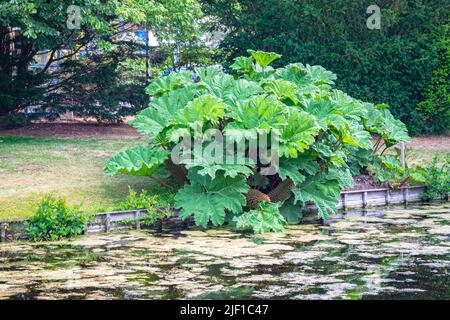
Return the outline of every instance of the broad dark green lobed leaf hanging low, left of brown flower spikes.
{"type": "Polygon", "coordinates": [[[186,219],[194,215],[198,226],[207,227],[209,221],[220,226],[225,221],[225,210],[239,213],[245,205],[245,193],[249,187],[246,178],[225,177],[219,172],[215,179],[202,176],[197,170],[189,170],[189,185],[178,191],[175,205],[181,208],[180,217],[186,219]]]}

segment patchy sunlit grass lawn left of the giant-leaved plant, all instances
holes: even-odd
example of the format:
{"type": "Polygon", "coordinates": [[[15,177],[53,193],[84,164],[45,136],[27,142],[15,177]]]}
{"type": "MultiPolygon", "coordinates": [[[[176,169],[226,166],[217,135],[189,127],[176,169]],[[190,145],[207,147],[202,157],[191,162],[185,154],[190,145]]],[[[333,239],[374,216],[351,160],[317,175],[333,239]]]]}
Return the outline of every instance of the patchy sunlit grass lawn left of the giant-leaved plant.
{"type": "Polygon", "coordinates": [[[150,178],[103,173],[108,158],[139,143],[145,139],[0,137],[0,220],[30,216],[47,193],[99,212],[114,210],[128,186],[161,191],[150,178]]]}

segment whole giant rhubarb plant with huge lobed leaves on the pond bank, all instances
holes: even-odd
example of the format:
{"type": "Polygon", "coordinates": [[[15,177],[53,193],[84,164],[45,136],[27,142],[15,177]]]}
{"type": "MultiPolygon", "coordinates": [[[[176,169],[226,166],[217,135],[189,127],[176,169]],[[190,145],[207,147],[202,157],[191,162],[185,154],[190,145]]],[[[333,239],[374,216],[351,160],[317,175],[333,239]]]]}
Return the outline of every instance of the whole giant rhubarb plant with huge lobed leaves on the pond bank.
{"type": "Polygon", "coordinates": [[[279,55],[249,54],[235,60],[233,75],[208,67],[154,81],[147,88],[150,106],[131,122],[149,144],[118,153],[106,173],[150,176],[165,167],[179,185],[175,203],[182,218],[193,215],[202,227],[228,222],[258,233],[278,232],[307,204],[314,204],[322,219],[334,213],[340,191],[353,181],[350,162],[373,150],[374,136],[389,145],[409,139],[385,105],[333,88],[336,76],[323,67],[294,63],[274,69],[270,63],[279,55]],[[240,142],[242,152],[231,154],[235,160],[248,156],[247,136],[278,136],[276,148],[267,146],[279,159],[276,170],[264,173],[268,165],[261,158],[173,161],[183,135],[208,147],[214,140],[210,129],[240,142]]]}

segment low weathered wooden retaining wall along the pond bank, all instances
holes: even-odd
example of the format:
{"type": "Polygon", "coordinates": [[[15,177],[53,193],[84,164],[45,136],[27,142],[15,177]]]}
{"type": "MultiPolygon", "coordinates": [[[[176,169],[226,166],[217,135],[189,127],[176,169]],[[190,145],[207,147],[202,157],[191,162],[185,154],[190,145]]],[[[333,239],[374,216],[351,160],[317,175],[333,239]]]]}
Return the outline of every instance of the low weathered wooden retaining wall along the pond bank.
{"type": "MultiPolygon", "coordinates": [[[[379,207],[391,204],[407,204],[420,201],[424,186],[408,186],[398,190],[368,189],[343,191],[337,206],[340,210],[379,207]]],[[[314,205],[310,206],[314,211],[314,205]]],[[[87,232],[108,232],[123,228],[140,229],[140,219],[148,213],[145,210],[101,212],[95,214],[93,220],[88,222],[87,232]]],[[[0,221],[0,241],[26,238],[24,223],[27,219],[0,221]]],[[[175,210],[173,217],[166,219],[164,225],[180,226],[189,222],[182,222],[175,210]]]]}

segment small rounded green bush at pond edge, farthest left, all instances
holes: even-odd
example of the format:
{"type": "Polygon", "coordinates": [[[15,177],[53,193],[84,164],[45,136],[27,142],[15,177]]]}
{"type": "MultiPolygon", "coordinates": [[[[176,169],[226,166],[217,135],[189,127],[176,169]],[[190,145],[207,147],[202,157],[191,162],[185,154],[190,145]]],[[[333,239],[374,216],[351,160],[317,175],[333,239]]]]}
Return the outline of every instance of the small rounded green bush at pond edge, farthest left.
{"type": "Polygon", "coordinates": [[[59,240],[82,234],[89,216],[70,208],[64,198],[45,197],[27,222],[26,230],[33,241],[59,240]]]}

